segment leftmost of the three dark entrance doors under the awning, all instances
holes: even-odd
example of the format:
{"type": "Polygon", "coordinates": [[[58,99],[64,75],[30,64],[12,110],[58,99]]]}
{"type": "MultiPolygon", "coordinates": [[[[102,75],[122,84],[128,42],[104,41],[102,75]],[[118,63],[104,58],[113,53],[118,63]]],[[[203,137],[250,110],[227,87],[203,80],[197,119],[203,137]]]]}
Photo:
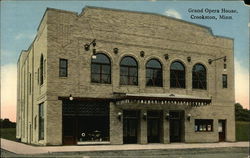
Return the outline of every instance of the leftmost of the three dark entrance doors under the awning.
{"type": "Polygon", "coordinates": [[[123,142],[137,143],[138,111],[123,111],[123,142]]]}

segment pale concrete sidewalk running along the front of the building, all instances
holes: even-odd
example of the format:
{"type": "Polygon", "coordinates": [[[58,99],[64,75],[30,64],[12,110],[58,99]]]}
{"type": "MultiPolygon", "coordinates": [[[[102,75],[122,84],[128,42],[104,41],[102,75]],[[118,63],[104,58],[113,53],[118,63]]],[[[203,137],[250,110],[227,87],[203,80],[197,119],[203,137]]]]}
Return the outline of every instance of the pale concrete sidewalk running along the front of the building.
{"type": "Polygon", "coordinates": [[[249,142],[222,143],[172,143],[172,144],[125,144],[125,145],[89,145],[89,146],[32,146],[1,138],[1,148],[16,154],[44,154],[52,152],[118,151],[150,149],[192,149],[249,147],[249,142]]]}

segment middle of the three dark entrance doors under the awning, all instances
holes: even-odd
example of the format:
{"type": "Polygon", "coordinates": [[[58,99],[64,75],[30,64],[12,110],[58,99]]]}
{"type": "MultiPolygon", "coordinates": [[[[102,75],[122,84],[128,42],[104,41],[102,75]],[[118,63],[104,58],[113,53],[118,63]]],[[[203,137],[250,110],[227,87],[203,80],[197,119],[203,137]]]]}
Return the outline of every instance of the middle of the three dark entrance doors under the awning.
{"type": "Polygon", "coordinates": [[[162,112],[161,111],[148,111],[147,118],[147,133],[149,143],[160,143],[162,112]]]}

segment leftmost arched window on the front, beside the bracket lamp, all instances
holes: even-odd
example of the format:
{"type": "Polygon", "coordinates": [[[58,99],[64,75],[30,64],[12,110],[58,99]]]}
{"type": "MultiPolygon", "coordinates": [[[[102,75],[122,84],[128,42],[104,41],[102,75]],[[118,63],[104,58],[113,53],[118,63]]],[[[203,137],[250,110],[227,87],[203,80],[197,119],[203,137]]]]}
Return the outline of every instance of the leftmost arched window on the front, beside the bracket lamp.
{"type": "Polygon", "coordinates": [[[91,82],[111,83],[111,63],[105,54],[98,53],[96,58],[92,59],[91,82]]]}

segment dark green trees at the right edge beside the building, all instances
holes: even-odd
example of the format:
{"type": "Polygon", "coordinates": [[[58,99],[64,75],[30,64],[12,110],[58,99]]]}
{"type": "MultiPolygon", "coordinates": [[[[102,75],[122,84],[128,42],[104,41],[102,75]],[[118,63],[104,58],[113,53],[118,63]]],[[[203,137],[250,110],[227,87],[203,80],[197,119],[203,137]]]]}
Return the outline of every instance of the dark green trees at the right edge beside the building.
{"type": "Polygon", "coordinates": [[[236,103],[234,107],[236,121],[250,121],[250,110],[244,109],[240,103],[236,103]]]}

